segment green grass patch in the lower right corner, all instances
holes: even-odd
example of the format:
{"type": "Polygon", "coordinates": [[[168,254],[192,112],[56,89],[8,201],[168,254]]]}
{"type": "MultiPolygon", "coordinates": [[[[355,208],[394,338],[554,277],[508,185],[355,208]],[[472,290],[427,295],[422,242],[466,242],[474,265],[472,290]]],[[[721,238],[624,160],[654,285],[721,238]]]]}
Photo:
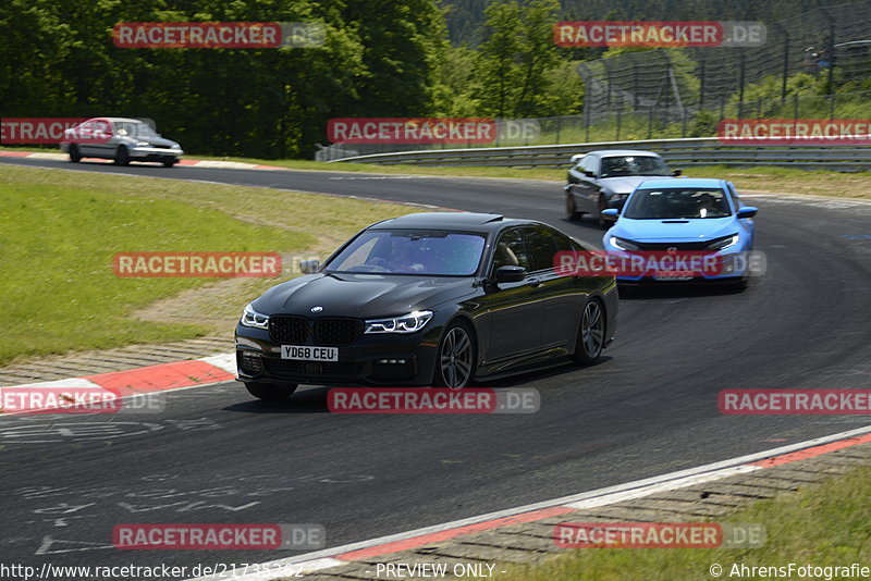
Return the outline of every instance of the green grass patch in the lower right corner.
{"type": "MultiPolygon", "coordinates": [[[[761,523],[766,543],[759,548],[597,548],[576,549],[540,566],[512,567],[499,581],[680,581],[720,579],[734,564],[747,566],[871,566],[871,468],[862,467],[797,493],[760,502],[719,522],[761,523]]],[[[740,579],[761,579],[745,577],[740,579]]],[[[785,578],[784,578],[785,579],[785,578]]],[[[794,574],[793,579],[798,579],[794,574]]],[[[835,577],[835,579],[843,579],[835,577]]]]}

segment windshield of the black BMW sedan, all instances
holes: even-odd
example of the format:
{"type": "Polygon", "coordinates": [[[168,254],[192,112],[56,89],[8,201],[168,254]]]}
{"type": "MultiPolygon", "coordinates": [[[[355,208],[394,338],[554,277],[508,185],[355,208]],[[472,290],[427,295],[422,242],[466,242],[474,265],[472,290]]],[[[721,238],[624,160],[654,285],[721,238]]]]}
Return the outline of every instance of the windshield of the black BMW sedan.
{"type": "Polygon", "coordinates": [[[471,276],[483,234],[436,231],[366,231],[327,265],[327,272],[471,276]]]}

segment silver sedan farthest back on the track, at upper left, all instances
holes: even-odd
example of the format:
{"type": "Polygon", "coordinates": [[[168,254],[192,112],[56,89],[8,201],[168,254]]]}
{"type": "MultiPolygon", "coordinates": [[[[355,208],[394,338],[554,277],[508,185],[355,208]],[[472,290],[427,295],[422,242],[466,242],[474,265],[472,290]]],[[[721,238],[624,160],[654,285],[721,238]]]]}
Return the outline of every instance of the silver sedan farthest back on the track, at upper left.
{"type": "Polygon", "coordinates": [[[161,137],[137,119],[95,118],[63,132],[61,151],[77,163],[82,158],[111,159],[118,165],[131,161],[157,161],[172,168],[182,157],[182,147],[161,137]]]}

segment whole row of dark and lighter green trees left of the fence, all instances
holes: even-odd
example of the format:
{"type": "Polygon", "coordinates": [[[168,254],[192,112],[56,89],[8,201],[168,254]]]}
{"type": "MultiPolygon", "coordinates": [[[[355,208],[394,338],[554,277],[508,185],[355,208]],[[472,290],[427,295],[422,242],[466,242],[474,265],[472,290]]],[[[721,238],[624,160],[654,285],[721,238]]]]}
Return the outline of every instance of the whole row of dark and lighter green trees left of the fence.
{"type": "MultiPolygon", "coordinates": [[[[810,0],[773,2],[784,3],[810,0]]],[[[625,0],[597,20],[640,17],[641,7],[662,20],[651,5],[678,4],[625,0]]],[[[151,118],[187,151],[267,159],[310,159],[333,118],[579,114],[576,62],[603,51],[556,47],[552,26],[585,14],[557,0],[5,0],[0,114],[151,118]],[[474,41],[452,42],[457,14],[476,23],[474,41]],[[327,34],[317,48],[118,48],[123,22],[310,22],[327,34]]]]}

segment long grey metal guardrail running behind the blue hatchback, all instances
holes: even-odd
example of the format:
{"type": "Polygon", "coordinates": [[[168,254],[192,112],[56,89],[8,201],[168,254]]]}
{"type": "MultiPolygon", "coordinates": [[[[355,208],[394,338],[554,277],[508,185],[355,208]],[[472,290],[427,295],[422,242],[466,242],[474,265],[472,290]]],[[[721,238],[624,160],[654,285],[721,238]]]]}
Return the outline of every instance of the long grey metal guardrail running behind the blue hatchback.
{"type": "Polygon", "coordinates": [[[657,151],[674,165],[778,165],[843,171],[871,170],[871,146],[723,145],[714,137],[601,141],[555,146],[430,149],[376,153],[335,162],[408,165],[496,165],[565,168],[572,156],[598,149],[657,151]]]}

